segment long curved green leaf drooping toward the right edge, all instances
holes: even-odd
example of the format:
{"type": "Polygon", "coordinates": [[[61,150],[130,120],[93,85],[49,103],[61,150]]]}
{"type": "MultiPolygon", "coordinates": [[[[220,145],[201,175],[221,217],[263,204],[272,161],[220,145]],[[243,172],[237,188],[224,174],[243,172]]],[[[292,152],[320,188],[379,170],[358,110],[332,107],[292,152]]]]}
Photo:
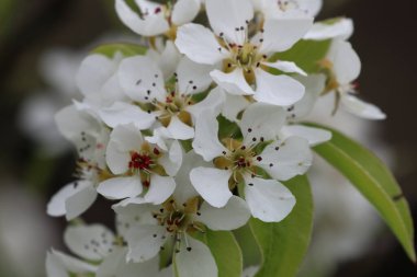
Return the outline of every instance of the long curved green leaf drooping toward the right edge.
{"type": "Polygon", "coordinates": [[[409,258],[416,262],[408,203],[387,166],[371,151],[341,132],[316,124],[308,125],[333,132],[330,141],[315,147],[314,150],[340,171],[376,208],[409,258]]]}

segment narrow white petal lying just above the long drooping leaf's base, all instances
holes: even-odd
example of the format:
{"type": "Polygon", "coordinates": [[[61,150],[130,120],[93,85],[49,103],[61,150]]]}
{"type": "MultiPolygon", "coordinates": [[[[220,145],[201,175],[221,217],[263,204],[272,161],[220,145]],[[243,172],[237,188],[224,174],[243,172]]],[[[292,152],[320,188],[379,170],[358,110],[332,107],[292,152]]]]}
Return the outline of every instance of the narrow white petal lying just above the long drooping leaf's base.
{"type": "Polygon", "coordinates": [[[308,141],[308,145],[311,147],[315,147],[331,139],[331,132],[328,130],[302,125],[284,126],[282,128],[282,139],[286,139],[293,136],[304,138],[308,141]]]}

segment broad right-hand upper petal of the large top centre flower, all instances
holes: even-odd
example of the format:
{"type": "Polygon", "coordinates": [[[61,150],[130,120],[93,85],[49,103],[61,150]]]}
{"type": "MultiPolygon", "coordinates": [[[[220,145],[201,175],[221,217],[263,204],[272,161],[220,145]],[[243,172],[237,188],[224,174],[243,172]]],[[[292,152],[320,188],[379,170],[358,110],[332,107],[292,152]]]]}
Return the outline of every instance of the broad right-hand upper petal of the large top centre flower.
{"type": "Polygon", "coordinates": [[[288,50],[303,38],[312,25],[313,18],[267,20],[259,50],[264,54],[288,50]]]}

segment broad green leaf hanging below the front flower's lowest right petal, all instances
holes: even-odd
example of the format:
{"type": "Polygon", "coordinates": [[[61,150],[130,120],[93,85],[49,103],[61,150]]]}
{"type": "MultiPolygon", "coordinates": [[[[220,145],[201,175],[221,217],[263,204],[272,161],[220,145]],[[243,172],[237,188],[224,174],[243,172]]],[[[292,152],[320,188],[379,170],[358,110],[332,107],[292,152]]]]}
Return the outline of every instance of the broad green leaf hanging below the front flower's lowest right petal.
{"type": "Polygon", "coordinates": [[[256,277],[292,277],[298,272],[308,249],[313,230],[313,196],[306,176],[285,182],[296,205],[281,222],[250,220],[250,228],[262,253],[256,277]]]}

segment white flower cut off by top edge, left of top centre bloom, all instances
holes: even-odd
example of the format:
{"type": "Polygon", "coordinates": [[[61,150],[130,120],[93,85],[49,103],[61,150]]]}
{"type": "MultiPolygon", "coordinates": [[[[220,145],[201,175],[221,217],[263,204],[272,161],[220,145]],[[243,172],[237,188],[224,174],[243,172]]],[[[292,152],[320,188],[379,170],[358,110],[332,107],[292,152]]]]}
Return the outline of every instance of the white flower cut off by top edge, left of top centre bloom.
{"type": "Polygon", "coordinates": [[[115,8],[121,21],[133,32],[143,36],[167,35],[174,38],[176,30],[194,20],[199,14],[199,0],[179,0],[173,5],[147,0],[135,0],[139,14],[124,0],[116,0],[115,8]]]}

